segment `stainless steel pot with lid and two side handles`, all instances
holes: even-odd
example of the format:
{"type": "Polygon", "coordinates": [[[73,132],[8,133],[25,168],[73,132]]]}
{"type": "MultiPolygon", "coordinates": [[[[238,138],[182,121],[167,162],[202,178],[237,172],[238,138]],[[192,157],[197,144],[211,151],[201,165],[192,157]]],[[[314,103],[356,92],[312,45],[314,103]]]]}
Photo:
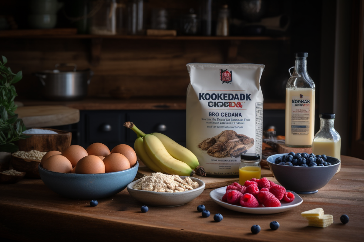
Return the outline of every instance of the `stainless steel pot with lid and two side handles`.
{"type": "Polygon", "coordinates": [[[73,63],[56,64],[55,70],[34,73],[43,85],[44,97],[57,101],[80,100],[87,95],[87,88],[94,74],[90,69],[77,71],[73,63]],[[73,66],[73,71],[60,71],[60,66],[73,66]]]}

